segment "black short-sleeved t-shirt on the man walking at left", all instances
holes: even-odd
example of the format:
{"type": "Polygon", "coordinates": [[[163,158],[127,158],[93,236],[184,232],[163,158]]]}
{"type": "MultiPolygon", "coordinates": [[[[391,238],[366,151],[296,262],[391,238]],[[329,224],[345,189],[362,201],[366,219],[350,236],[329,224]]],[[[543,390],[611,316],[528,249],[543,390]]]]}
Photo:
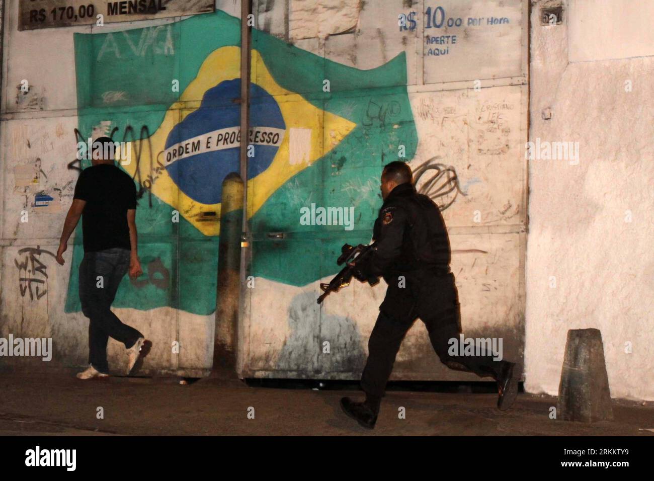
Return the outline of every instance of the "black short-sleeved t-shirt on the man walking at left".
{"type": "Polygon", "coordinates": [[[84,252],[113,247],[131,249],[128,209],[136,209],[136,185],[120,168],[97,164],[82,171],[75,199],[86,200],[82,213],[84,252]]]}

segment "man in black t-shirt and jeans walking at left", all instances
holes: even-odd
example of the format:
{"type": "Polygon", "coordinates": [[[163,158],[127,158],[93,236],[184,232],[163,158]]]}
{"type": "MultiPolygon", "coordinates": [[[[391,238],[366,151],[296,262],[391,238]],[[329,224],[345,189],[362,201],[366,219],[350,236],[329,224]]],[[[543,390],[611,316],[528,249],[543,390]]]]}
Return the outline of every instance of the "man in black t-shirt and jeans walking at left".
{"type": "Polygon", "coordinates": [[[109,375],[109,336],[128,349],[128,372],[139,355],[145,354],[141,347],[146,342],[141,332],[123,324],[111,312],[111,303],[125,274],[129,271],[133,279],[143,274],[137,255],[134,181],[114,165],[114,142],[109,137],[94,141],[92,164],[77,179],[57,251],[57,262],[63,266],[68,239],[82,217],[84,258],[79,268],[79,289],[82,312],[89,318],[90,366],[77,374],[80,379],[109,375]]]}

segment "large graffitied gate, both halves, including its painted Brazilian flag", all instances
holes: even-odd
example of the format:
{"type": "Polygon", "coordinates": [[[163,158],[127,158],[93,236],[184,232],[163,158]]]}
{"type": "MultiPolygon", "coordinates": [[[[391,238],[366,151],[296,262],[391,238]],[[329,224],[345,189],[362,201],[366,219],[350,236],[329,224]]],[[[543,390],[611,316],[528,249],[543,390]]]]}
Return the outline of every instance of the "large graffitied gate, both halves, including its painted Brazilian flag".
{"type": "MultiPolygon", "coordinates": [[[[10,1],[8,11],[17,5],[10,1]]],[[[504,356],[521,363],[527,7],[523,0],[254,2],[251,124],[280,135],[253,142],[253,283],[239,326],[241,375],[359,376],[385,286],[355,283],[322,308],[315,300],[320,281],[337,272],[341,245],[370,240],[381,168],[397,158],[443,208],[464,333],[503,338],[504,356]],[[301,209],[311,204],[353,209],[351,228],[303,223],[301,209]],[[283,239],[269,236],[280,232],[283,239]]],[[[192,376],[211,367],[220,185],[237,170],[238,149],[168,154],[237,125],[240,7],[230,0],[216,9],[21,32],[15,15],[6,19],[1,336],[52,336],[54,363],[84,365],[80,239],[69,243],[65,266],[53,253],[87,166],[75,161],[76,142],[110,134],[131,152],[123,168],[142,194],[145,267],[136,281],[124,279],[116,313],[153,341],[146,370],[192,376]],[[17,88],[23,79],[25,94],[17,88]],[[29,221],[21,222],[22,211],[29,221]],[[179,223],[171,221],[175,211],[179,223]]],[[[111,342],[112,367],[123,365],[121,349],[111,342]]],[[[442,366],[421,323],[407,335],[394,376],[477,379],[442,366]]]]}

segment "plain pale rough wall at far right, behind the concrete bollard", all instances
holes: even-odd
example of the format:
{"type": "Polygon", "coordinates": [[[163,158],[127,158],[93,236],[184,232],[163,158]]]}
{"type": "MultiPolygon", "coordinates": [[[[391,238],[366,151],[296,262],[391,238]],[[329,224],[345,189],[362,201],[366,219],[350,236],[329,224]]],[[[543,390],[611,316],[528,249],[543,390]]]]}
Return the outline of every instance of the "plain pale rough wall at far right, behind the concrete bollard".
{"type": "Polygon", "coordinates": [[[556,394],[566,332],[594,327],[611,396],[652,400],[654,6],[570,0],[542,26],[552,5],[532,3],[530,140],[579,156],[529,161],[525,387],[556,394]]]}

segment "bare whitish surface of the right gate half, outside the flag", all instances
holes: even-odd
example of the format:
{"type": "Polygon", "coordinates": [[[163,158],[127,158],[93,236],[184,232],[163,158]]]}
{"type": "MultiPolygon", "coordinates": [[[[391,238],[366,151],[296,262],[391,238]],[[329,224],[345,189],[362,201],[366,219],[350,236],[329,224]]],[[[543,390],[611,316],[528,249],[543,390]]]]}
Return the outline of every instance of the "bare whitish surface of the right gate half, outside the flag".
{"type": "MultiPolygon", "coordinates": [[[[527,2],[255,3],[258,27],[334,62],[371,69],[405,52],[407,92],[418,135],[417,151],[409,165],[413,169],[425,163],[450,166],[464,193],[443,211],[453,249],[451,267],[462,304],[464,333],[502,337],[506,358],[521,363],[527,2]],[[273,5],[271,9],[267,9],[269,5],[273,5]],[[431,7],[433,13],[438,5],[443,7],[445,18],[462,18],[463,25],[429,28],[424,12],[431,7]],[[408,16],[412,11],[415,29],[399,31],[398,15],[408,16]],[[506,18],[508,23],[490,25],[491,17],[506,18]],[[483,20],[468,26],[468,18],[483,20]],[[456,43],[432,43],[441,35],[456,35],[456,43]],[[447,53],[430,55],[430,48],[436,47],[447,53]]],[[[375,191],[378,182],[377,178],[362,179],[358,185],[343,189],[375,191]]],[[[256,257],[253,262],[257,262],[256,257]]],[[[330,259],[322,262],[328,265],[330,259]]],[[[256,279],[256,289],[247,290],[249,312],[242,333],[245,375],[358,378],[386,285],[382,282],[370,289],[355,282],[332,294],[318,309],[318,283],[330,278],[302,287],[256,279]],[[324,341],[330,342],[330,355],[321,352],[324,341]]],[[[443,366],[420,321],[402,344],[392,378],[479,380],[474,374],[443,366]]]]}

